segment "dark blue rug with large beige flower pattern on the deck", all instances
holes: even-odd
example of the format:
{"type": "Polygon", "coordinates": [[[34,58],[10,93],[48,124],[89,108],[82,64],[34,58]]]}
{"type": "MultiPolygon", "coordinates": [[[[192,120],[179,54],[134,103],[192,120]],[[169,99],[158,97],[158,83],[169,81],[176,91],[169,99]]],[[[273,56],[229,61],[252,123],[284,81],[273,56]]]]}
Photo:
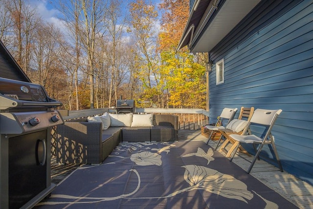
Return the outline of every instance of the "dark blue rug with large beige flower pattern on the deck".
{"type": "Polygon", "coordinates": [[[297,208],[203,141],[120,143],[80,167],[36,208],[297,208]]]}

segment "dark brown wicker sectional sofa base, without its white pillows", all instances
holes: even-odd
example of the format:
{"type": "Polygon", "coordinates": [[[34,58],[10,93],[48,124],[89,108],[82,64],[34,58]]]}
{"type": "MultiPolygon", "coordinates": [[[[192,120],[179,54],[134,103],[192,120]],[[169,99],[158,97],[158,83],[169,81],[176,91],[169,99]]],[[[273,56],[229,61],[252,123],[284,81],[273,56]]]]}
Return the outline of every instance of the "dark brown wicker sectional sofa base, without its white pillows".
{"type": "Polygon", "coordinates": [[[153,115],[153,126],[110,126],[88,122],[87,117],[57,126],[57,163],[98,164],[106,159],[120,141],[178,140],[178,116],[153,115]]]}

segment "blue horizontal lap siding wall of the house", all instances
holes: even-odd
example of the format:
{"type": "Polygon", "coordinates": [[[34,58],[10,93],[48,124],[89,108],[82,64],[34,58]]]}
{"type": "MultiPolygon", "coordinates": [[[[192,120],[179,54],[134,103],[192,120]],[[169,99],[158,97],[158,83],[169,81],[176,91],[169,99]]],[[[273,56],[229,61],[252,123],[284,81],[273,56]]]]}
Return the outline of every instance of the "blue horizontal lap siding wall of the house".
{"type": "MultiPolygon", "coordinates": [[[[224,83],[215,66],[209,75],[210,122],[224,107],[282,109],[272,134],[283,168],[313,185],[313,1],[260,2],[210,59],[224,59],[224,83]]],[[[262,156],[271,163],[267,146],[262,156]]]]}

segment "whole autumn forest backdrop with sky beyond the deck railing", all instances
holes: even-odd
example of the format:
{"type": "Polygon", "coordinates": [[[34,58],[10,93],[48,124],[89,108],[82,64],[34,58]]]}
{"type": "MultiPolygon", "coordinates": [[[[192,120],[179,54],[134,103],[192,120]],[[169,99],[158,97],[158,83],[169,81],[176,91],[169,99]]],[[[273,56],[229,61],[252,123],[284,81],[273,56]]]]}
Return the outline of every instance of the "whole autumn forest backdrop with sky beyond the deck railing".
{"type": "Polygon", "coordinates": [[[45,21],[28,0],[1,0],[0,40],[64,109],[112,107],[120,97],[136,107],[205,109],[207,54],[176,52],[189,0],[53,6],[60,25],[45,21]]]}

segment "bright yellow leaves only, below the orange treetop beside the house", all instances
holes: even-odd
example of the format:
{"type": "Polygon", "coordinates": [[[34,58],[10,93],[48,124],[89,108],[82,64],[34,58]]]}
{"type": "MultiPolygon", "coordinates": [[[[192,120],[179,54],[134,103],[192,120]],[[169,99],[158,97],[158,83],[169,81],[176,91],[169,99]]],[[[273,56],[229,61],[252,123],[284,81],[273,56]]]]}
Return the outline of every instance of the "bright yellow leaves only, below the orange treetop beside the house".
{"type": "Polygon", "coordinates": [[[176,108],[200,108],[205,98],[204,67],[195,63],[193,56],[162,52],[162,74],[166,76],[169,105],[176,108]]]}

